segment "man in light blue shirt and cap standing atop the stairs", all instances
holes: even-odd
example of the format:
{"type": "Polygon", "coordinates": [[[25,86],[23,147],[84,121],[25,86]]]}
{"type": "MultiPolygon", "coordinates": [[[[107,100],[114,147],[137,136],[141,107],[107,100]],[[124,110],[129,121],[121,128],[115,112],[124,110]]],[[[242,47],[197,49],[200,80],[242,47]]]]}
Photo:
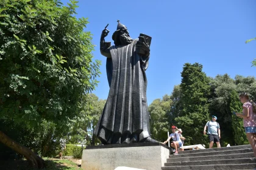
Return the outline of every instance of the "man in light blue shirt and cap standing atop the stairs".
{"type": "Polygon", "coordinates": [[[208,121],[204,126],[204,135],[206,134],[206,127],[208,127],[208,137],[210,140],[209,148],[213,147],[214,142],[216,142],[218,148],[221,148],[221,144],[219,143],[219,139],[221,138],[221,129],[216,120],[217,117],[213,115],[212,121],[208,121]]]}

